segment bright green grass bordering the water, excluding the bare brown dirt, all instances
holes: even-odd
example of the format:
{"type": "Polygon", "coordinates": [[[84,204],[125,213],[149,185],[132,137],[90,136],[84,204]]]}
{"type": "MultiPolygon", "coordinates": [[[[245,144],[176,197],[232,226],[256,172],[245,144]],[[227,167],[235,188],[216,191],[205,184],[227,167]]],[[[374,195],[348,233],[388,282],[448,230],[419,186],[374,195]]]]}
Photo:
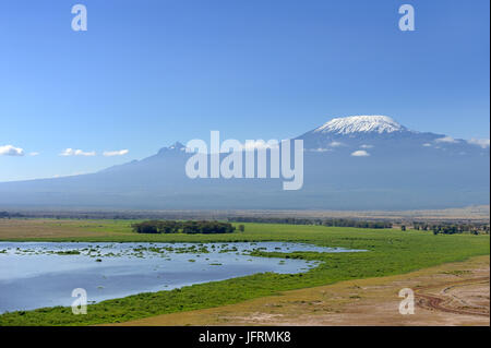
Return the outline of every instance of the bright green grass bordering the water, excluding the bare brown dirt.
{"type": "MultiPolygon", "coordinates": [[[[322,226],[243,224],[244,232],[227,235],[139,235],[129,220],[39,220],[43,228],[56,233],[2,233],[0,240],[38,241],[112,241],[112,242],[238,242],[292,241],[324,247],[363,249],[354,253],[259,253],[270,257],[296,257],[320,261],[306,273],[288,275],[264,273],[193,285],[170,291],[148,292],[89,304],[86,315],[73,315],[71,308],[46,308],[0,315],[0,325],[91,325],[118,323],[165,313],[190,311],[237,303],[248,299],[277,295],[339,280],[380,277],[408,273],[446,262],[488,255],[488,235],[436,235],[429,231],[359,229],[322,226]],[[69,233],[63,231],[69,230],[69,233]]],[[[40,230],[40,229],[39,229],[40,230]]]]}

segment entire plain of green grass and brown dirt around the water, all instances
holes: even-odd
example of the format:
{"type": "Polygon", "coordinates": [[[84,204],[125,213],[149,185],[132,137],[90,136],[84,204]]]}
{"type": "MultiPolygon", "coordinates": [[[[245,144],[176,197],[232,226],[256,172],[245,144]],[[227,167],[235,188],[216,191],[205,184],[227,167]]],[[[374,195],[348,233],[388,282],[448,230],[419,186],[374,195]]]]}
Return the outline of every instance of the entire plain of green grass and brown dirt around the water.
{"type": "Polygon", "coordinates": [[[224,235],[143,235],[132,230],[135,221],[0,219],[0,241],[280,241],[363,252],[256,250],[316,266],[105,300],[85,315],[70,307],[7,312],[0,325],[489,325],[489,235],[253,223],[224,235]],[[398,312],[402,288],[415,290],[415,315],[398,312]]]}

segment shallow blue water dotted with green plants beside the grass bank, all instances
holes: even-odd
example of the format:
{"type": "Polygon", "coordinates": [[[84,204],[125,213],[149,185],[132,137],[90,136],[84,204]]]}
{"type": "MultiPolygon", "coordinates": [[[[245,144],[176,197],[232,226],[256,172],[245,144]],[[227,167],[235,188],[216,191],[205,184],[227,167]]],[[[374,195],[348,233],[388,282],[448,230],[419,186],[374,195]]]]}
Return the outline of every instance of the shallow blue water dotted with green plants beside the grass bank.
{"type": "Polygon", "coordinates": [[[315,262],[255,257],[261,251],[349,252],[302,243],[0,242],[0,313],[88,303],[256,273],[300,273],[315,262]]]}

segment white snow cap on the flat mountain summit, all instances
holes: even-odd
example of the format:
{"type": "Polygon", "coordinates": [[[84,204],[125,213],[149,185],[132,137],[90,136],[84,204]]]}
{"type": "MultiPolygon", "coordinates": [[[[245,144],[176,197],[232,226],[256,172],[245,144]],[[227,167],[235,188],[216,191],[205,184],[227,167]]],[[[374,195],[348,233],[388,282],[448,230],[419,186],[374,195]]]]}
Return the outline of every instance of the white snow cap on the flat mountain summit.
{"type": "Polygon", "coordinates": [[[335,118],[324,123],[314,132],[321,133],[393,133],[407,131],[404,125],[400,125],[387,116],[349,116],[343,118],[335,118]]]}

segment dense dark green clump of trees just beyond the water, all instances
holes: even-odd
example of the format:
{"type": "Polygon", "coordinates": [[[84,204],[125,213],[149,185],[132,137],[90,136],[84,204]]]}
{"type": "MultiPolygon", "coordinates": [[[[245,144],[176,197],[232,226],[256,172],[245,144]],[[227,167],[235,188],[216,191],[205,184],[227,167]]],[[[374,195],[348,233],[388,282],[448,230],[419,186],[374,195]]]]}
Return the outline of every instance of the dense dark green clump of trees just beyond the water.
{"type": "MultiPolygon", "coordinates": [[[[137,233],[231,233],[236,228],[229,223],[219,221],[177,221],[149,220],[131,225],[137,233]]],[[[239,226],[241,231],[243,225],[239,226]]]]}

